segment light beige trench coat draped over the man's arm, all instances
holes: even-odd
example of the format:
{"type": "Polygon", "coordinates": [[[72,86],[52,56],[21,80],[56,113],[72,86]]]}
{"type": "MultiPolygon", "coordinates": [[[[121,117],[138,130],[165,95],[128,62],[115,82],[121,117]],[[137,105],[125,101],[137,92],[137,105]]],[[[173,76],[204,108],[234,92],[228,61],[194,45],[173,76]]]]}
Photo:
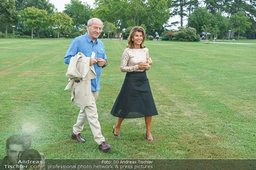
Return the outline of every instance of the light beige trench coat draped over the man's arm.
{"type": "Polygon", "coordinates": [[[94,66],[90,66],[90,58],[80,52],[70,58],[66,77],[69,78],[69,83],[65,90],[72,87],[72,103],[80,108],[91,106],[91,79],[97,75],[94,66]]]}

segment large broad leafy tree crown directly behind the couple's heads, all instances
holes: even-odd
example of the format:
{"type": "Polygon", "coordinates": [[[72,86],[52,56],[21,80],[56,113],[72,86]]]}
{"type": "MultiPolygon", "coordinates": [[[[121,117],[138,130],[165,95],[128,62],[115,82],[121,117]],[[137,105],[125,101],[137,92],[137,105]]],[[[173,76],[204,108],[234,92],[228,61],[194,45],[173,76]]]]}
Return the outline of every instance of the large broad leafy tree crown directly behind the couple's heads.
{"type": "Polygon", "coordinates": [[[115,24],[119,31],[141,24],[148,30],[162,29],[170,18],[169,4],[170,0],[96,0],[93,15],[115,24]]]}

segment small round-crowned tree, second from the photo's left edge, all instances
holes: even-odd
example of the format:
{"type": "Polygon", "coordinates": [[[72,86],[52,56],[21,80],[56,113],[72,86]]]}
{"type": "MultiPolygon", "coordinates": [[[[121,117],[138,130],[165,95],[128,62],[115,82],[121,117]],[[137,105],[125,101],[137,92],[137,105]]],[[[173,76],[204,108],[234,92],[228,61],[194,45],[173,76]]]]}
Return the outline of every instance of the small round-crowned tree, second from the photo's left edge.
{"type": "Polygon", "coordinates": [[[48,15],[46,10],[37,9],[36,7],[27,7],[20,11],[20,18],[25,26],[31,28],[31,39],[33,39],[34,28],[39,29],[48,23],[48,15]]]}

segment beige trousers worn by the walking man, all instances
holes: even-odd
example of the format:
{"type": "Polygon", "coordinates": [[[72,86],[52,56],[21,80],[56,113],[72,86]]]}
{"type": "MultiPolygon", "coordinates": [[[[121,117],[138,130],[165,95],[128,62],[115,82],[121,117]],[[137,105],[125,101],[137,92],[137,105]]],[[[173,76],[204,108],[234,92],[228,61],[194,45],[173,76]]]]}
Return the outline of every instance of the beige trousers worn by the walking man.
{"type": "Polygon", "coordinates": [[[96,107],[96,101],[97,97],[99,95],[99,91],[91,91],[92,98],[91,101],[93,101],[91,106],[84,107],[83,109],[80,109],[78,120],[75,125],[73,125],[73,132],[74,134],[80,134],[81,131],[83,131],[83,125],[86,123],[86,120],[88,120],[91,132],[94,134],[94,140],[97,142],[97,144],[101,144],[102,142],[105,142],[104,136],[102,136],[102,131],[99,125],[98,120],[98,113],[97,113],[97,107],[96,107]]]}

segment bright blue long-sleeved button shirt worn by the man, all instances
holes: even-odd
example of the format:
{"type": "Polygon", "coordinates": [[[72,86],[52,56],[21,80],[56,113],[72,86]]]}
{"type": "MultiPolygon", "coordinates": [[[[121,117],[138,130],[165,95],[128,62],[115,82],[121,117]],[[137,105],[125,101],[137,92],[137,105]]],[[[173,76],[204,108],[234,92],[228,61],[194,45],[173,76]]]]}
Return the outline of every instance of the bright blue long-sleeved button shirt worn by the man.
{"type": "MultiPolygon", "coordinates": [[[[105,47],[99,39],[96,39],[93,42],[90,36],[86,33],[83,36],[78,36],[75,39],[72,39],[69,49],[67,50],[66,56],[64,58],[65,63],[69,64],[70,58],[75,56],[78,52],[83,53],[86,57],[91,58],[91,53],[95,53],[95,59],[102,58],[107,61],[107,55],[105,53],[105,47]]],[[[108,63],[108,61],[107,61],[108,63]]],[[[100,89],[100,75],[102,74],[101,66],[98,66],[97,63],[94,63],[94,69],[97,74],[97,77],[91,80],[91,90],[99,91],[100,89]]]]}

